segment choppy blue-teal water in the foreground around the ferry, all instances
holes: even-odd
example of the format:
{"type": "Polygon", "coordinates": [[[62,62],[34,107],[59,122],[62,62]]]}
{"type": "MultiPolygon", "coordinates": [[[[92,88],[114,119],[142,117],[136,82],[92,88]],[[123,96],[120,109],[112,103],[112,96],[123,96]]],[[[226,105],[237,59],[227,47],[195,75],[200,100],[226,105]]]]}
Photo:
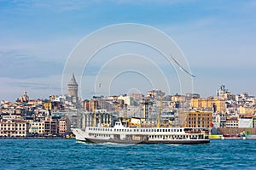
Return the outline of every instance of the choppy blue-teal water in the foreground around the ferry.
{"type": "Polygon", "coordinates": [[[134,145],[0,139],[0,149],[0,169],[256,169],[256,140],[134,145]]]}

